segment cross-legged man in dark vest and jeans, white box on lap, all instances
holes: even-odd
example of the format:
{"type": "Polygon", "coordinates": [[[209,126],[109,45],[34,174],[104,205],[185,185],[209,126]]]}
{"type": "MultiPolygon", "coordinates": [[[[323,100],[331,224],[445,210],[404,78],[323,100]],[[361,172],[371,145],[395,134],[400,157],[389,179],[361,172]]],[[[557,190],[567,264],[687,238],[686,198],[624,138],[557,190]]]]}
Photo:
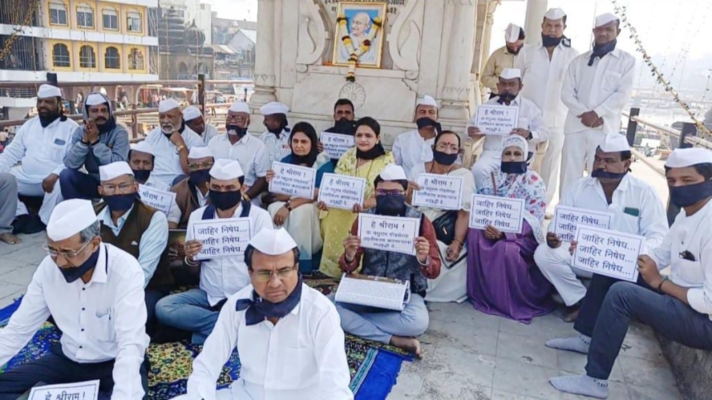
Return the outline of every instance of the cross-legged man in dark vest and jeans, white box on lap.
{"type": "Polygon", "coordinates": [[[420,342],[415,337],[428,329],[429,316],[423,299],[427,279],[437,278],[441,262],[433,224],[420,211],[406,204],[407,187],[408,180],[402,167],[389,164],[379,174],[375,179],[376,208],[360,215],[382,218],[379,221],[371,218],[368,226],[359,226],[359,220],[353,223],[350,236],[344,241],[339,266],[345,273],[353,273],[361,265],[360,273],[364,275],[410,281],[410,301],[401,312],[340,302],[336,308],[345,332],[392,344],[422,357],[420,342]],[[401,226],[398,219],[419,220],[416,231],[407,231],[403,227],[410,225],[403,223],[401,226]],[[370,237],[360,236],[367,228],[370,237]],[[362,247],[365,242],[372,243],[372,247],[362,247]],[[407,242],[409,246],[406,246],[407,242]],[[393,246],[394,250],[384,250],[383,245],[393,246]],[[379,248],[374,248],[377,246],[379,248]]]}

